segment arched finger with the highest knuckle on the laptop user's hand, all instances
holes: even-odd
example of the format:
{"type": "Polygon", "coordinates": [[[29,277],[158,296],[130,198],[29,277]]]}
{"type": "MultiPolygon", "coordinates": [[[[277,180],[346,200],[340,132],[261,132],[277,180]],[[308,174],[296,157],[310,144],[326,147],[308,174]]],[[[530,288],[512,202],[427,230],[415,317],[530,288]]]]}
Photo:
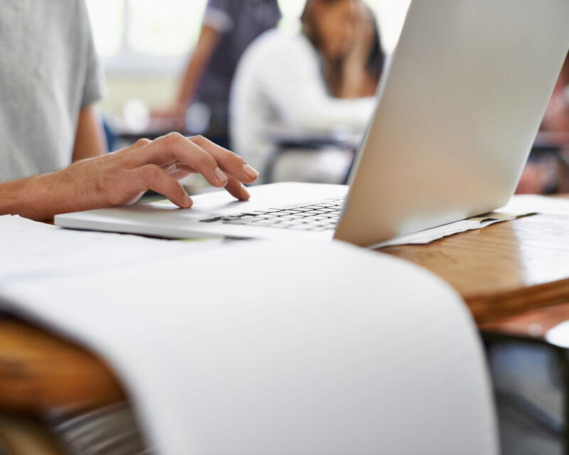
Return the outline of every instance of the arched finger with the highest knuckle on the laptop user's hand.
{"type": "Polygon", "coordinates": [[[218,166],[216,159],[192,141],[178,133],[159,137],[139,153],[132,155],[132,167],[156,164],[164,166],[174,161],[196,169],[212,186],[218,188],[227,184],[228,175],[218,166]]]}

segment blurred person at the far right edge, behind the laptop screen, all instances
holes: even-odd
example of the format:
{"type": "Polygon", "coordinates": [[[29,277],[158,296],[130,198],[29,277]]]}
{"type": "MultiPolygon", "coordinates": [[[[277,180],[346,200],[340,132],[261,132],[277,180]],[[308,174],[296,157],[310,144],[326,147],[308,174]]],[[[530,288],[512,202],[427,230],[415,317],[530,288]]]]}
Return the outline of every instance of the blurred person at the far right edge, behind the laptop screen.
{"type": "Polygon", "coordinates": [[[569,191],[569,53],[541,122],[537,142],[520,178],[516,193],[569,191]]]}

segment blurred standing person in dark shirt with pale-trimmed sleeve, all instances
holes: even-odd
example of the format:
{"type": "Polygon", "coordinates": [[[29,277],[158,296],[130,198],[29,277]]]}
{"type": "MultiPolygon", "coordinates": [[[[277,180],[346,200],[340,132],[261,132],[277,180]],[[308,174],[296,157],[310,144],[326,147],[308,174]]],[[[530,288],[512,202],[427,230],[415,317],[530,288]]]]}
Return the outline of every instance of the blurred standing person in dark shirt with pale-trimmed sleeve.
{"type": "Polygon", "coordinates": [[[198,44],[176,100],[169,107],[155,109],[154,115],[170,117],[189,132],[192,123],[200,124],[198,129],[205,131],[197,133],[228,146],[228,102],[235,68],[245,48],[260,34],[275,28],[281,17],[277,0],[208,0],[198,44]],[[191,105],[196,109],[188,113],[191,105]]]}

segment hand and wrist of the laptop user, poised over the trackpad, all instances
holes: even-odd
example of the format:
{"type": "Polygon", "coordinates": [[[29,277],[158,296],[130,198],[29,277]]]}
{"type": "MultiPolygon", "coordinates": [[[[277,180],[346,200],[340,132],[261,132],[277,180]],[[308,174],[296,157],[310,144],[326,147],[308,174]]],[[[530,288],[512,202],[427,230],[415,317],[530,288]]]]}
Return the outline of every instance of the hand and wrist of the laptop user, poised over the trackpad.
{"type": "Polygon", "coordinates": [[[134,203],[149,189],[190,208],[192,200],[178,180],[191,173],[201,173],[212,186],[225,188],[239,200],[249,198],[241,183],[252,183],[259,175],[243,158],[204,137],[170,133],[27,179],[21,191],[25,203],[18,213],[46,220],[57,213],[134,203]]]}

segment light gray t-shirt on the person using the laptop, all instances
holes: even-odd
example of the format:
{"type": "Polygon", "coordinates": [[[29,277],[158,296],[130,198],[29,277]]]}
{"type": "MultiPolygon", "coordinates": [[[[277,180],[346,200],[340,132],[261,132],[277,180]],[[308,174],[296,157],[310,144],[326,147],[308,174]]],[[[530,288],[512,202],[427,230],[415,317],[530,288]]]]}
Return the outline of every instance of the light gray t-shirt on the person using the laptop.
{"type": "Polygon", "coordinates": [[[0,181],[68,166],[101,95],[84,0],[0,1],[0,181]]]}

